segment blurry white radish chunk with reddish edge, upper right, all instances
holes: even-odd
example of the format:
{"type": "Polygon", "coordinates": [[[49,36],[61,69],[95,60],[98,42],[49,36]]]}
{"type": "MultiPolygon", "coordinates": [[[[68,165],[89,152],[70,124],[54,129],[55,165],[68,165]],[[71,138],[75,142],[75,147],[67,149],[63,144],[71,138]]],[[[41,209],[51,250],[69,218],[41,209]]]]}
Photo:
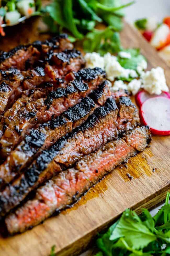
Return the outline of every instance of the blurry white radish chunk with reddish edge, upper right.
{"type": "Polygon", "coordinates": [[[167,24],[162,24],[152,36],[151,45],[154,46],[156,49],[162,48],[162,46],[167,42],[167,38],[169,38],[169,34],[170,34],[169,26],[167,24]]]}

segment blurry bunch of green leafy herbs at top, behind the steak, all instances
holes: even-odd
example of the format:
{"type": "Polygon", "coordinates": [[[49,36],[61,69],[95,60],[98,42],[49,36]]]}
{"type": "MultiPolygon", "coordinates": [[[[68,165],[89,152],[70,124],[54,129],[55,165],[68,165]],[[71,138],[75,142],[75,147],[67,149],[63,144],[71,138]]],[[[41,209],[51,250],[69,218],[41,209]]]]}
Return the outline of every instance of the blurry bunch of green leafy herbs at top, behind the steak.
{"type": "Polygon", "coordinates": [[[115,53],[121,49],[119,36],[114,32],[123,27],[122,9],[133,3],[122,5],[120,0],[53,0],[42,9],[42,16],[51,32],[60,33],[66,29],[75,40],[85,39],[85,51],[115,53]],[[98,23],[109,27],[100,31],[94,29],[98,23]]]}

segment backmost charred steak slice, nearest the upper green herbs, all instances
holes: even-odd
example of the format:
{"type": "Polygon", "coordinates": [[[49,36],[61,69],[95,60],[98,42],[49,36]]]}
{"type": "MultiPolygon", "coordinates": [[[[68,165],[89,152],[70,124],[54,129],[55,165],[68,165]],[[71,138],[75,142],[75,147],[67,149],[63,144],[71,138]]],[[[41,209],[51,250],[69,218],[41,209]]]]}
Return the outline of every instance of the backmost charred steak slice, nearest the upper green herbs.
{"type": "Polygon", "coordinates": [[[66,34],[61,34],[44,42],[36,41],[28,45],[19,45],[0,55],[0,70],[11,67],[19,70],[30,69],[39,58],[43,59],[44,56],[48,56],[51,50],[63,51],[72,48],[73,45],[67,39],[66,34]]]}

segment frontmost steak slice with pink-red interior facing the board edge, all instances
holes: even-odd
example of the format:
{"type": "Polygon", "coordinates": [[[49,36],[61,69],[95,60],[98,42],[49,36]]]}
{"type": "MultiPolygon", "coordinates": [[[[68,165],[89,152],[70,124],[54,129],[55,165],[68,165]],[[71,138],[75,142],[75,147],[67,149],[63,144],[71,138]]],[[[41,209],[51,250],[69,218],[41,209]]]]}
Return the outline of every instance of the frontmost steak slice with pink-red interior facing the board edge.
{"type": "Polygon", "coordinates": [[[149,127],[141,126],[122,134],[95,153],[84,156],[74,168],[61,172],[37,189],[27,201],[5,218],[10,234],[23,232],[39,224],[55,211],[75,203],[86,191],[116,166],[126,162],[148,146],[149,127]]]}

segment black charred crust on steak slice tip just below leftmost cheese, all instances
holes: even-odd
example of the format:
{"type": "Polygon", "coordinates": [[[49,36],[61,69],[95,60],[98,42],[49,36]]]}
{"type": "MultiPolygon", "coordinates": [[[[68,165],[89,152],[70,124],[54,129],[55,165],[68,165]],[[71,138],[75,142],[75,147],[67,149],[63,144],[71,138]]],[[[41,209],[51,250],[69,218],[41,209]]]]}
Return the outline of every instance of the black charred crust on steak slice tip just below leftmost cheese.
{"type": "Polygon", "coordinates": [[[76,79],[84,81],[93,80],[99,75],[104,77],[106,75],[105,71],[99,67],[95,67],[94,69],[81,69],[78,72],[73,72],[73,74],[75,75],[76,79]]]}

